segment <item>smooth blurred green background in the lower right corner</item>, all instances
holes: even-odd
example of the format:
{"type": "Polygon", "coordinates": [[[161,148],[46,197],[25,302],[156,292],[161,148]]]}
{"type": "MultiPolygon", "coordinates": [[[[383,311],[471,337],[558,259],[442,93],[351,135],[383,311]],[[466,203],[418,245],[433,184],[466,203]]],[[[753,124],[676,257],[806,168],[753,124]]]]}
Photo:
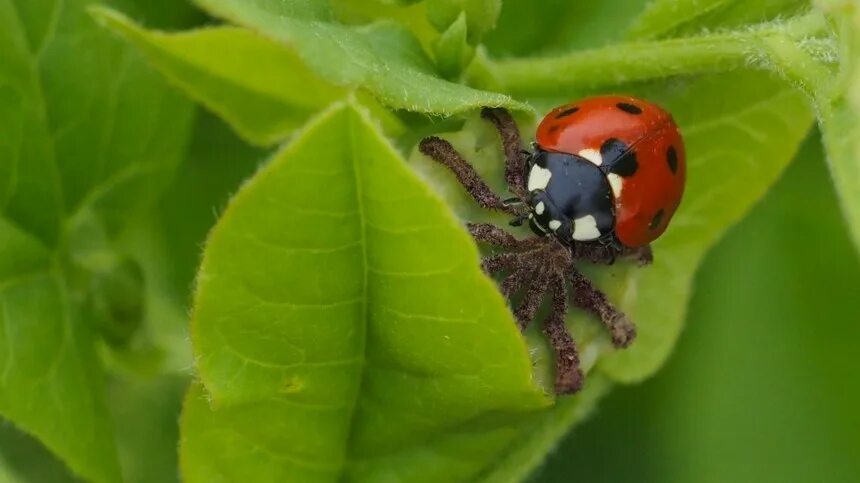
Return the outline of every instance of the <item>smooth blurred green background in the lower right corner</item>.
{"type": "Polygon", "coordinates": [[[860,481],[860,263],[818,136],[700,267],[669,363],[533,481],[860,481]]]}

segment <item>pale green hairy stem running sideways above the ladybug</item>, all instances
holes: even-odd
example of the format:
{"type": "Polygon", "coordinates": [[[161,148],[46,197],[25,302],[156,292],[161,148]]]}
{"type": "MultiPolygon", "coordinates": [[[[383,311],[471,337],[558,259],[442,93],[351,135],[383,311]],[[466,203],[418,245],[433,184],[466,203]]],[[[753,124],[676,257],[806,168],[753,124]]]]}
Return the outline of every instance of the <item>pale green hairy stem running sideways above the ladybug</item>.
{"type": "Polygon", "coordinates": [[[471,69],[470,80],[479,86],[528,96],[752,67],[776,70],[781,75],[790,73],[788,80],[808,90],[826,77],[825,66],[805,51],[800,41],[822,33],[829,33],[827,23],[820,13],[813,12],[753,29],[631,42],[555,57],[494,61],[484,56],[476,59],[479,65],[471,69]],[[816,68],[808,71],[810,79],[800,78],[802,71],[786,67],[813,64],[816,68]]]}

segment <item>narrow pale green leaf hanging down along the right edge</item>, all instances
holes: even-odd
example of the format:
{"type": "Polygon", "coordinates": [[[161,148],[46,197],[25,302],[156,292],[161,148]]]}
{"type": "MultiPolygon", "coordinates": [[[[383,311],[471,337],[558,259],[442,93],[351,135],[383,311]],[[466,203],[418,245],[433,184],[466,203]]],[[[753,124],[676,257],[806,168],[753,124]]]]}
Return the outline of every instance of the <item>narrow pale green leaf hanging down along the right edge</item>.
{"type": "Polygon", "coordinates": [[[821,1],[835,18],[841,72],[830,99],[819,102],[827,161],[854,244],[860,250],[860,9],[853,2],[821,1]]]}

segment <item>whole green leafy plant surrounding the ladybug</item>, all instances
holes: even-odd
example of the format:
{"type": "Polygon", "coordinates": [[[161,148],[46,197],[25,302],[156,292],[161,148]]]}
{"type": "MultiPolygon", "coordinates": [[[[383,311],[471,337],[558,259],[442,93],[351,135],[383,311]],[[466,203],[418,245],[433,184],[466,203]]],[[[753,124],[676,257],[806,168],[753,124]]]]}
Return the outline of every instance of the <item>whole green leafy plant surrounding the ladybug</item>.
{"type": "Polygon", "coordinates": [[[196,247],[233,191],[193,290],[191,482],[521,480],[663,364],[700,260],[815,120],[860,247],[847,0],[198,0],[227,24],[174,33],[130,17],[175,31],[200,22],[187,5],[106,3],[0,0],[0,415],[86,480],[172,476],[175,434],[124,421],[175,411],[196,247]],[[256,148],[194,129],[168,83],[256,148]],[[606,91],[673,112],[690,181],[652,267],[595,271],[639,340],[613,351],[572,314],[589,382],[552,400],[543,340],[455,216],[489,215],[414,146],[447,132],[499,180],[478,108],[531,126],[606,91]]]}

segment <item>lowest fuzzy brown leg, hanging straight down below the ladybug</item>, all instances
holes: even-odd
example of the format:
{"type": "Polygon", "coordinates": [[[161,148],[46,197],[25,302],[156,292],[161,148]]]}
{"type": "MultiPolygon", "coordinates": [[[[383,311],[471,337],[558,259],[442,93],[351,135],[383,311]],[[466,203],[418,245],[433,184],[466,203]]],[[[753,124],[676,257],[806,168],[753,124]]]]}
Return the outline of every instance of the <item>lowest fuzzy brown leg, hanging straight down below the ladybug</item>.
{"type": "Polygon", "coordinates": [[[564,316],[567,314],[564,284],[564,276],[554,274],[550,283],[552,305],[549,316],[544,321],[543,333],[555,350],[555,392],[572,394],[582,387],[584,377],[579,368],[576,343],[564,325],[564,316]]]}

